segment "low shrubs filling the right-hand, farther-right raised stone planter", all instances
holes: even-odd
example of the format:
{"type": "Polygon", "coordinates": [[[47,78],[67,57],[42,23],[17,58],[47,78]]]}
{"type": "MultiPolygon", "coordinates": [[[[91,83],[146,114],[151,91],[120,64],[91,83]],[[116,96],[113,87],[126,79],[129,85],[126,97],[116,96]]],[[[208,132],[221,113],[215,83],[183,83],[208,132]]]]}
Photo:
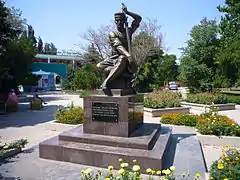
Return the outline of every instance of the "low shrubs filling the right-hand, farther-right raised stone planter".
{"type": "Polygon", "coordinates": [[[219,93],[197,93],[197,94],[188,94],[187,102],[198,103],[198,104],[226,104],[228,103],[228,98],[224,94],[219,93]]]}

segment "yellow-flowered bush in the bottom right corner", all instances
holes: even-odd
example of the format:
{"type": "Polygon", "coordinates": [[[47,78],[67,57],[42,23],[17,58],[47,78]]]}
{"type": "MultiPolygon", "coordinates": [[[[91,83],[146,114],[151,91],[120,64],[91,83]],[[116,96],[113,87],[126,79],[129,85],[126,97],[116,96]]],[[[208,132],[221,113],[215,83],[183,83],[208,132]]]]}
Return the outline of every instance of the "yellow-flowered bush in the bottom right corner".
{"type": "Polygon", "coordinates": [[[210,177],[212,180],[240,179],[240,151],[230,146],[224,147],[221,157],[210,168],[210,177]]]}

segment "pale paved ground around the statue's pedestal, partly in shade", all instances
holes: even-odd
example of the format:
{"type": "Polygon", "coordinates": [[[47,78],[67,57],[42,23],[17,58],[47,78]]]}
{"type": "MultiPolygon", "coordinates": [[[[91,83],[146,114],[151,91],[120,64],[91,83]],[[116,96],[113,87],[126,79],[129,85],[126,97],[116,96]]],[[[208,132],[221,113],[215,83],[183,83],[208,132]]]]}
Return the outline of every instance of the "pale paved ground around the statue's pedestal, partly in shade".
{"type": "MultiPolygon", "coordinates": [[[[74,104],[82,106],[82,101],[78,98],[78,95],[47,94],[44,95],[44,99],[48,104],[40,111],[30,111],[29,103],[21,103],[20,112],[0,116],[0,136],[3,142],[11,142],[21,138],[27,138],[29,141],[27,151],[0,163],[0,179],[4,179],[4,177],[12,179],[19,177],[24,180],[79,179],[80,170],[87,167],[39,158],[39,142],[75,127],[74,125],[53,122],[53,114],[57,106],[69,105],[72,101],[74,104]]],[[[240,108],[223,113],[234,117],[238,121],[240,108]]],[[[145,122],[159,123],[159,120],[160,118],[145,117],[145,122]]],[[[207,157],[212,157],[211,154],[215,153],[215,151],[206,147],[204,150],[207,157]]],[[[172,164],[176,166],[177,174],[183,172],[200,173],[204,178],[205,165],[201,148],[191,128],[173,128],[173,138],[166,165],[172,164]]],[[[93,169],[97,170],[97,168],[93,169]]]]}

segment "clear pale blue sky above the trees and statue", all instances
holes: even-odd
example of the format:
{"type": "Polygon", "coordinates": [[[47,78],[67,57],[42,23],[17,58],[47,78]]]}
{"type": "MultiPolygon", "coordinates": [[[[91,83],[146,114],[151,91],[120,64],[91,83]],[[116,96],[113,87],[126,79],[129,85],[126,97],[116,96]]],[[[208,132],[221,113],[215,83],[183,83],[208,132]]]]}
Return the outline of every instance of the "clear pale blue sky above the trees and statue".
{"type": "Polygon", "coordinates": [[[76,44],[85,43],[80,35],[90,26],[111,24],[122,2],[143,19],[157,19],[167,53],[177,57],[191,28],[203,17],[219,20],[222,14],[216,7],[224,4],[224,0],[6,0],[7,6],[23,11],[36,36],[58,49],[78,49],[76,44]]]}

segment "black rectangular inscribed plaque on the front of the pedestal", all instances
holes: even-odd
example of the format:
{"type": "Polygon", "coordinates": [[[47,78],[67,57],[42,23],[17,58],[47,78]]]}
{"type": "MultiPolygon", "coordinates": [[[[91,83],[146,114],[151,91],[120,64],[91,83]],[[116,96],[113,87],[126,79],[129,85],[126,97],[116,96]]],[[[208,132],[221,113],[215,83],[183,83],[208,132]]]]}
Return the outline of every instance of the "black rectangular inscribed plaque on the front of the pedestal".
{"type": "Polygon", "coordinates": [[[118,122],[118,104],[92,102],[92,121],[118,122]]]}

